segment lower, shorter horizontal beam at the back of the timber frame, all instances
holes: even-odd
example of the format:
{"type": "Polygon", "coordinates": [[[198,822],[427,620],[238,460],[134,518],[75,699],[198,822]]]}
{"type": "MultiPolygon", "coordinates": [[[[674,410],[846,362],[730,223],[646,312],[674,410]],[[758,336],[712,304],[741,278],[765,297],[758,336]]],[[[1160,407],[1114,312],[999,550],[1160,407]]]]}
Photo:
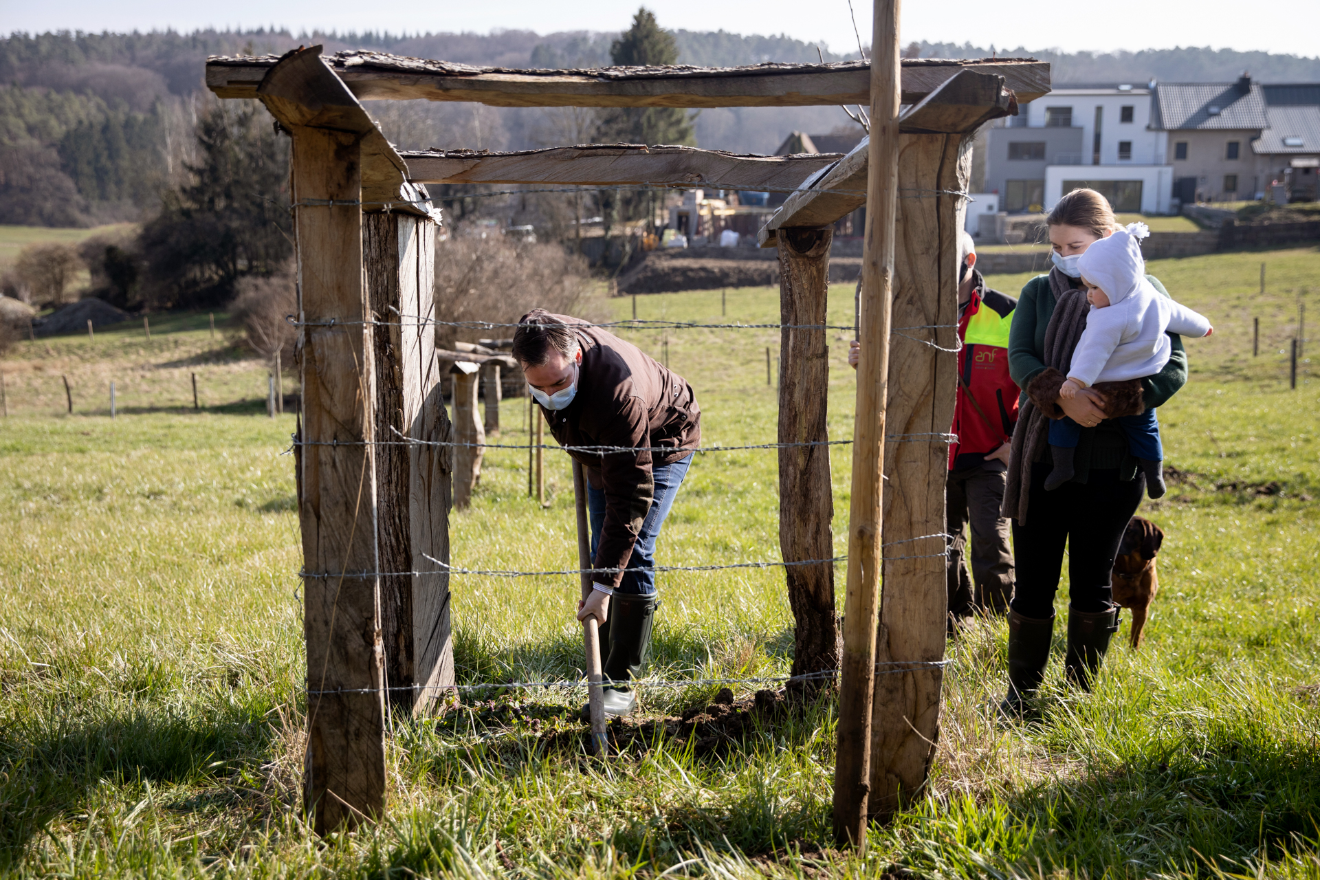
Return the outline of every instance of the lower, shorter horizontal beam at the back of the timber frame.
{"type": "Polygon", "coordinates": [[[737,156],[692,146],[609,144],[519,153],[401,153],[414,183],[557,183],[585,186],[711,186],[792,190],[840,158],[837,153],[737,156]]]}

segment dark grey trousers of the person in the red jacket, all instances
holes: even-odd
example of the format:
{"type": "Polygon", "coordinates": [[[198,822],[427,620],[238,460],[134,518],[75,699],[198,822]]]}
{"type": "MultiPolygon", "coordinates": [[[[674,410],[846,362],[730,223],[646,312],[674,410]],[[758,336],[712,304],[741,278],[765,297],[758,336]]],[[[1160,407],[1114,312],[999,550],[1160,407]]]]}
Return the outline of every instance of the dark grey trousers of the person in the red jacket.
{"type": "Polygon", "coordinates": [[[1008,546],[1008,520],[999,516],[1006,479],[1005,471],[987,467],[949,471],[945,520],[948,533],[953,536],[948,561],[950,617],[966,617],[977,611],[1005,613],[1008,610],[1014,582],[1012,550],[1008,546]],[[968,557],[972,562],[970,577],[968,557]]]}

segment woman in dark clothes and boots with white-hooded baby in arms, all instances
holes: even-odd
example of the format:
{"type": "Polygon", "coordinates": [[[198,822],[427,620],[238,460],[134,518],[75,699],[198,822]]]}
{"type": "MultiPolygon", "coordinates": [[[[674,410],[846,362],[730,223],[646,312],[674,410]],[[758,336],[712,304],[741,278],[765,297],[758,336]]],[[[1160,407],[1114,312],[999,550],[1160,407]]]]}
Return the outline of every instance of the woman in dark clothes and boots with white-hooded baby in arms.
{"type": "Polygon", "coordinates": [[[1003,507],[1018,578],[1001,710],[1014,718],[1049,660],[1065,545],[1065,673],[1090,687],[1118,629],[1109,584],[1123,529],[1144,489],[1164,491],[1154,410],[1187,383],[1179,334],[1213,331],[1144,274],[1144,224],[1121,227],[1100,193],[1073,190],[1047,223],[1055,268],[1022,289],[1008,336],[1023,389],[1003,507]]]}

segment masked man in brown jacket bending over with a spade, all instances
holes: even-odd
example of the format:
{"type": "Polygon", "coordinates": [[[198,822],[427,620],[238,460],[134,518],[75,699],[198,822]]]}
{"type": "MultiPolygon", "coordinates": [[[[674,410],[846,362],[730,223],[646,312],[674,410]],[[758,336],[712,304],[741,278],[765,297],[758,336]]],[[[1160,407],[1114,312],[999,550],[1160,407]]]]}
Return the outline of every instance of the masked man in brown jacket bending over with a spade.
{"type": "MultiPolygon", "coordinates": [[[[701,442],[697,398],[682,376],[632,343],[544,309],[519,319],[512,354],[561,446],[627,450],[569,453],[586,472],[591,567],[616,569],[593,575],[577,617],[599,623],[606,679],[640,678],[660,606],[656,540],[692,464],[692,447],[701,442]]],[[[636,707],[627,685],[603,691],[606,715],[636,707]]]]}

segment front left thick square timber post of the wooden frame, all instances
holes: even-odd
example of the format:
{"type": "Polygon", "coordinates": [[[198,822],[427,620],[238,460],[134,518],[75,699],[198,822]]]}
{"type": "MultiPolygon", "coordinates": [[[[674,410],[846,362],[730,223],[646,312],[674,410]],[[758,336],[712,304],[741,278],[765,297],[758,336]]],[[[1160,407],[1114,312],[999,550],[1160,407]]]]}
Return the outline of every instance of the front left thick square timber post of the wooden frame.
{"type": "Polygon", "coordinates": [[[385,806],[384,648],[376,553],[376,379],[362,268],[358,136],[297,125],[302,413],[298,507],[305,570],[308,756],[304,805],[318,834],[385,806]],[[334,199],[339,204],[317,203],[334,199]],[[317,577],[322,575],[322,577],[317,577]]]}

